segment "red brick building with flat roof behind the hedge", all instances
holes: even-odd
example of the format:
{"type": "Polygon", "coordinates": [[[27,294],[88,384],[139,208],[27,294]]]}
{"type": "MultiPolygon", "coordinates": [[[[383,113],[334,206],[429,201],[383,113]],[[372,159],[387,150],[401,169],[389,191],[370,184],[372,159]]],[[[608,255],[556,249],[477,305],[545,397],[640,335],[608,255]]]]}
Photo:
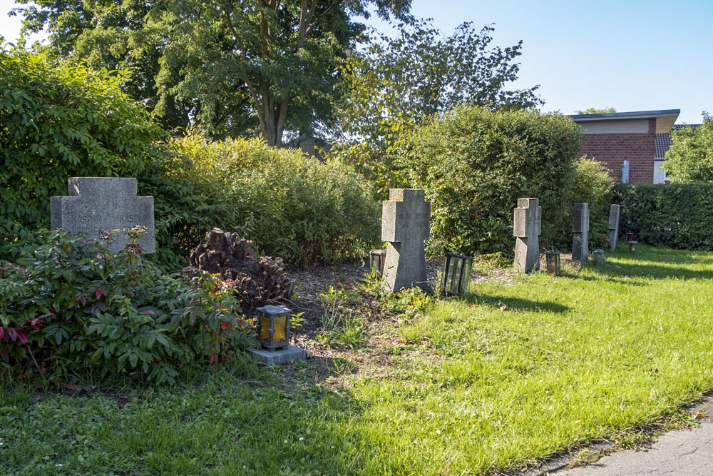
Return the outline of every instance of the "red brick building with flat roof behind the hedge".
{"type": "Polygon", "coordinates": [[[660,142],[663,134],[668,136],[680,112],[668,109],[570,117],[582,127],[582,155],[605,163],[617,182],[661,183],[665,174],[658,166],[665,151],[657,150],[657,135],[660,142]]]}

